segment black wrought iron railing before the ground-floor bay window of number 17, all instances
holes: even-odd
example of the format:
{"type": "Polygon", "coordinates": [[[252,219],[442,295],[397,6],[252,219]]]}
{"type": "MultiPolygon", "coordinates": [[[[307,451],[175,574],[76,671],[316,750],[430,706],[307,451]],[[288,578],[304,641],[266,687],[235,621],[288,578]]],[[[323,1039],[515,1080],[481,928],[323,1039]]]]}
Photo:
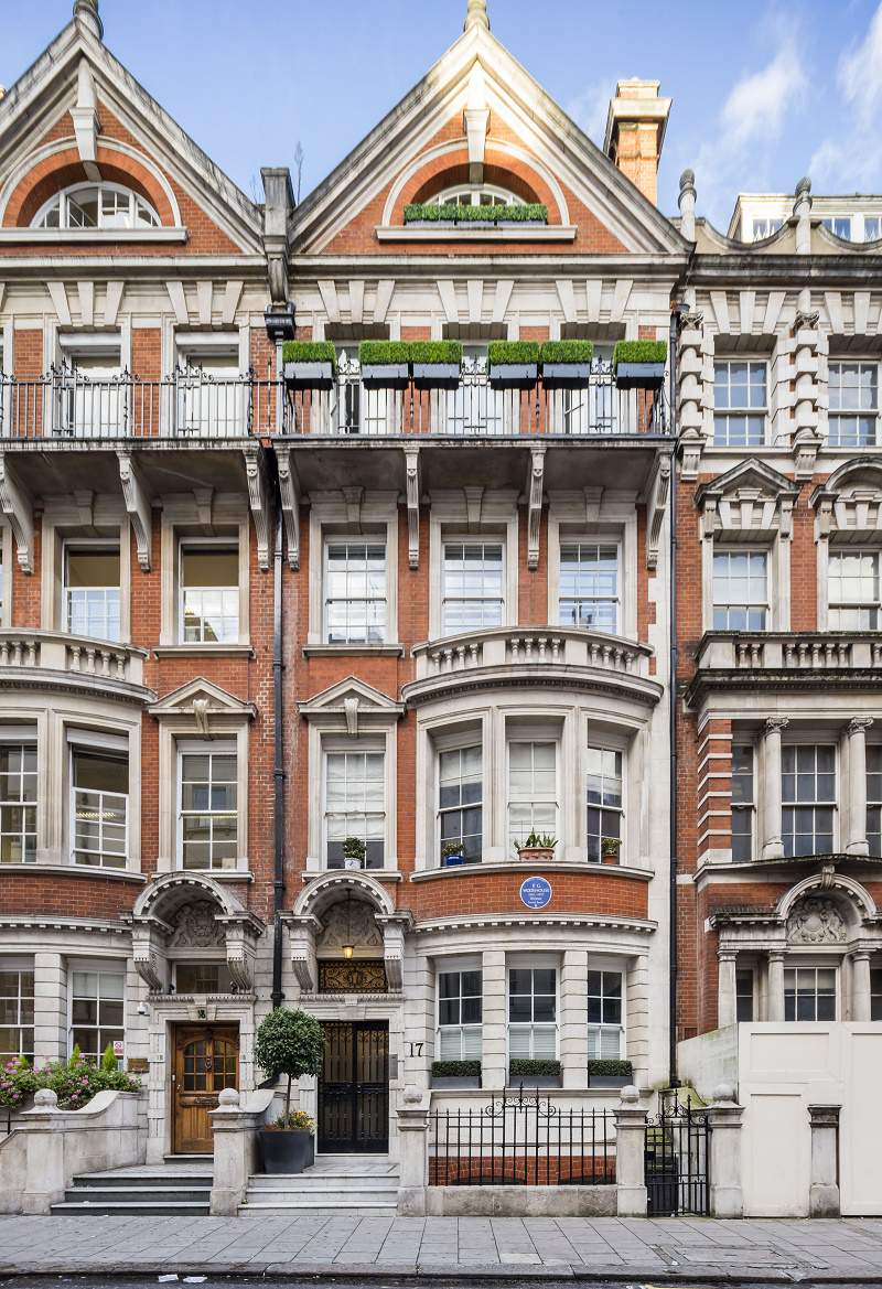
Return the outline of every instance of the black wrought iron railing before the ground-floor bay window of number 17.
{"type": "Polygon", "coordinates": [[[431,1186],[614,1186],[615,1115],[521,1087],[480,1110],[429,1112],[431,1186]]]}

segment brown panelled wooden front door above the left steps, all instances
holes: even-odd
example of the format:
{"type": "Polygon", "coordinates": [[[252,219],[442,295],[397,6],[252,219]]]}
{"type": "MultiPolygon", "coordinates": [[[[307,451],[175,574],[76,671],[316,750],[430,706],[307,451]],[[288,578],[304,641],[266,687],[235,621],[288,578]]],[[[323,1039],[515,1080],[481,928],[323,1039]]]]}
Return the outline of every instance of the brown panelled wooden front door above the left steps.
{"type": "Polygon", "coordinates": [[[218,1096],[239,1087],[239,1030],[231,1025],[178,1025],[173,1075],[177,1155],[210,1155],[211,1120],[218,1096]]]}

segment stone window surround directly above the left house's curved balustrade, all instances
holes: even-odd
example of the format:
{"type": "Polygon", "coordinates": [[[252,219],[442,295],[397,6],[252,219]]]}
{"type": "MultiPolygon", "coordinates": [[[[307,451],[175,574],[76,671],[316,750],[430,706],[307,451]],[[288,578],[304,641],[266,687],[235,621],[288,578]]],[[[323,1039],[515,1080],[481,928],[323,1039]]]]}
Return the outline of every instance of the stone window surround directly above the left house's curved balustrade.
{"type": "Polygon", "coordinates": [[[46,498],[43,512],[40,625],[63,632],[64,545],[79,539],[95,541],[94,528],[106,532],[107,543],[120,548],[120,643],[132,642],[132,536],[122,498],[46,498]]]}

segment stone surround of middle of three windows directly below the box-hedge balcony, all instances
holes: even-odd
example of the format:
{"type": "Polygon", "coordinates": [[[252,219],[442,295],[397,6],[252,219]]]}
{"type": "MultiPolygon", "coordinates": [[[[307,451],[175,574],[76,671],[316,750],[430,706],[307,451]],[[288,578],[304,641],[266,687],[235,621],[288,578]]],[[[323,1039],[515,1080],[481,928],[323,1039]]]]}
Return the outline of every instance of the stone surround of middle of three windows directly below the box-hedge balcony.
{"type": "MultiPolygon", "coordinates": [[[[503,547],[502,626],[517,625],[518,512],[513,490],[468,489],[433,492],[429,498],[429,639],[442,634],[445,541],[499,540],[503,547]]],[[[475,628],[480,630],[480,628],[475,628]]]]}

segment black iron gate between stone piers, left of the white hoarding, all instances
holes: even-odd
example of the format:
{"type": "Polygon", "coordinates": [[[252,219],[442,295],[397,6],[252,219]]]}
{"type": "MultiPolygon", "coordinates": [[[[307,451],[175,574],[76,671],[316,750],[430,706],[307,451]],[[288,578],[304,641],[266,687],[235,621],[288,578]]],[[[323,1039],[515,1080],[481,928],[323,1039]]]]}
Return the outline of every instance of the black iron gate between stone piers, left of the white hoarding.
{"type": "Polygon", "coordinates": [[[663,1093],[659,1112],[646,1120],[643,1173],[650,1217],[710,1214],[710,1127],[707,1110],[663,1093]]]}

